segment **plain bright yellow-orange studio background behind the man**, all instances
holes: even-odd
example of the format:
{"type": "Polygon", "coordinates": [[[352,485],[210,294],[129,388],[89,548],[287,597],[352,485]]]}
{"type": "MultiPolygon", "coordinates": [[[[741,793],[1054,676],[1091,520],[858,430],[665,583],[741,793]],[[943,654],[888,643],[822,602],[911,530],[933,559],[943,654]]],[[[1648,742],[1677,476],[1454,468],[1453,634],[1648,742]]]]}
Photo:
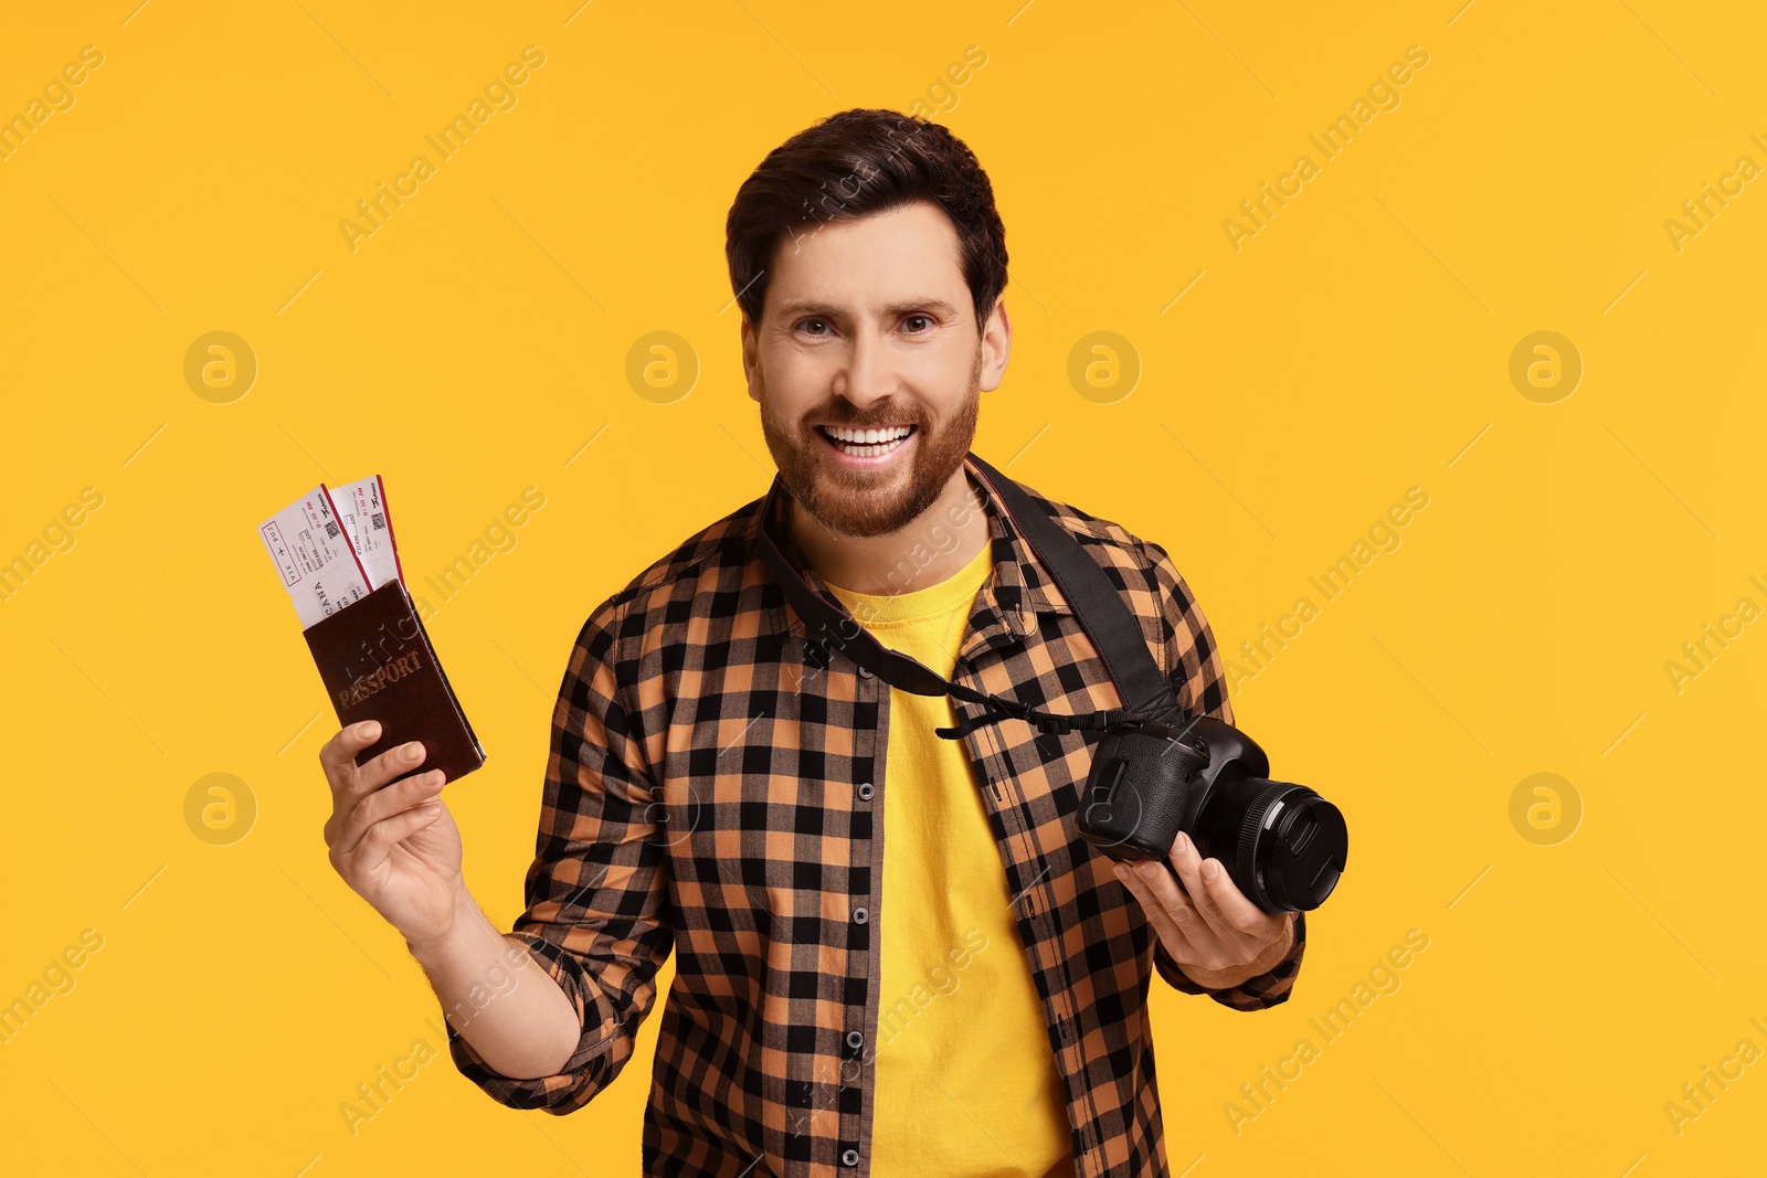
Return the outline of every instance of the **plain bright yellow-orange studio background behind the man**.
{"type": "Polygon", "coordinates": [[[1665,671],[1737,599],[1767,606],[1763,182],[1680,251],[1665,231],[1739,155],[1767,164],[1758,9],[134,4],[14,9],[0,35],[7,117],[104,53],[0,161],[0,560],[102,495],[0,602],[0,1001],[102,936],[0,1046],[9,1169],[636,1173],[656,1016],[567,1120],[435,1058],[348,1130],[357,1084],[438,1046],[436,1007],[325,860],[334,722],[254,526],[378,472],[424,595],[544,493],[429,595],[491,758],[445,797],[507,927],[585,615],[770,477],[735,187],[813,120],[929,87],[1009,226],[1016,348],[981,454],[1164,544],[1230,650],[1430,495],[1235,698],[1354,848],[1288,1005],[1156,985],[1172,1171],[1760,1167],[1767,1063],[1679,1136],[1665,1114],[1739,1040],[1767,1049],[1767,625],[1679,692],[1665,671]],[[337,223],[528,44],[518,106],[352,253],[337,223]],[[972,44],[986,65],[938,90],[972,44]],[[1322,162],[1308,134],[1412,44],[1401,104],[1322,162]],[[1235,253],[1223,219],[1302,152],[1320,175],[1235,253]],[[260,366],[230,404],[184,380],[212,330],[260,366]],[[627,381],[657,330],[694,350],[686,396],[627,381]],[[1067,380],[1097,330],[1141,364],[1108,404],[1067,380]],[[1557,404],[1509,381],[1536,330],[1585,364],[1557,404]],[[184,818],[216,772],[258,809],[230,846],[184,818]],[[1537,772],[1583,807],[1555,846],[1509,818],[1537,772]],[[1320,1046],[1309,1019],[1408,929],[1430,947],[1401,987],[1320,1046]],[[1302,1037],[1318,1058],[1235,1134],[1223,1106],[1302,1037]]]}

